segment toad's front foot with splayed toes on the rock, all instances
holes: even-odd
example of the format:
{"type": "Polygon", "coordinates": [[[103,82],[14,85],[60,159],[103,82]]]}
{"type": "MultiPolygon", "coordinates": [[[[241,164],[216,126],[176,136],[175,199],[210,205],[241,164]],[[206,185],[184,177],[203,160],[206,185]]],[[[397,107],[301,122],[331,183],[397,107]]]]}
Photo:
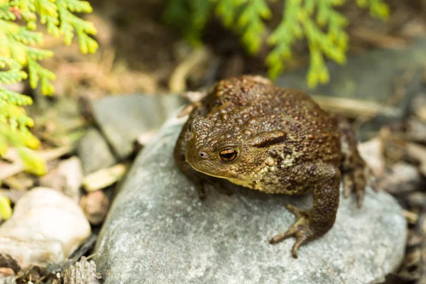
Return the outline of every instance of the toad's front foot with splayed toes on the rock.
{"type": "Polygon", "coordinates": [[[300,246],[302,246],[302,244],[305,244],[310,239],[314,239],[315,232],[309,221],[310,210],[300,210],[291,204],[288,204],[286,207],[288,211],[295,214],[296,222],[293,224],[293,226],[290,227],[290,229],[285,231],[283,234],[278,234],[274,236],[269,241],[269,243],[276,244],[280,241],[283,241],[284,239],[290,238],[290,236],[295,236],[296,242],[293,245],[291,254],[294,258],[297,258],[297,252],[299,251],[300,246]]]}

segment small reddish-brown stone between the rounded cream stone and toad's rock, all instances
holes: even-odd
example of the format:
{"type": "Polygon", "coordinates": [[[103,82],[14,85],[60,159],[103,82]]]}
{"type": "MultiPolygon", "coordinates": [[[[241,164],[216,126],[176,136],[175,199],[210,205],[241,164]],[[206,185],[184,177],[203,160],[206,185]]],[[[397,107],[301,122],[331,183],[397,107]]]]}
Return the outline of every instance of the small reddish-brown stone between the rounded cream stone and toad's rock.
{"type": "Polygon", "coordinates": [[[86,215],[90,224],[99,225],[104,222],[109,208],[109,198],[102,190],[89,192],[80,200],[84,215],[86,215]]]}

